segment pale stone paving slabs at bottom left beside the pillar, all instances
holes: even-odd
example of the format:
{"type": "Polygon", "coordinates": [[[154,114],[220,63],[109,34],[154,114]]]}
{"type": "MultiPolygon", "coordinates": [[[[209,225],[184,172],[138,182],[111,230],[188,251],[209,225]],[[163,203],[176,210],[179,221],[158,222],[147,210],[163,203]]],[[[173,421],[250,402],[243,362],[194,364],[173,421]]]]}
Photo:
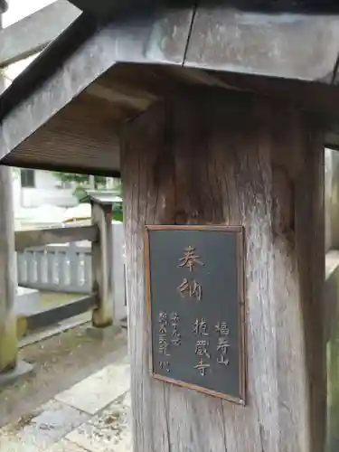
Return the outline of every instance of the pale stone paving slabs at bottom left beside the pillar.
{"type": "Polygon", "coordinates": [[[1,452],[131,452],[127,357],[0,429],[1,452]]]}

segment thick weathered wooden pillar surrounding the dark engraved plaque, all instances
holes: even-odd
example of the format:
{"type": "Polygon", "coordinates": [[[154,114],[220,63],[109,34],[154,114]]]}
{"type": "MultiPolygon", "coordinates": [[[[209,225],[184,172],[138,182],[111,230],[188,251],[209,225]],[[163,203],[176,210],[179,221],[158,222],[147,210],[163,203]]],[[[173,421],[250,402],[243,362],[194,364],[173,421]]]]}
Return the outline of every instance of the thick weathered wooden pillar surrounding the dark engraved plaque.
{"type": "Polygon", "coordinates": [[[294,108],[245,93],[154,105],[122,141],[137,452],[323,452],[324,149],[294,108]],[[155,381],[145,224],[245,227],[247,406],[155,381]]]}

